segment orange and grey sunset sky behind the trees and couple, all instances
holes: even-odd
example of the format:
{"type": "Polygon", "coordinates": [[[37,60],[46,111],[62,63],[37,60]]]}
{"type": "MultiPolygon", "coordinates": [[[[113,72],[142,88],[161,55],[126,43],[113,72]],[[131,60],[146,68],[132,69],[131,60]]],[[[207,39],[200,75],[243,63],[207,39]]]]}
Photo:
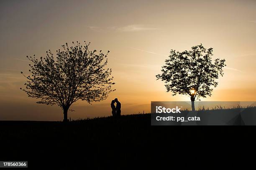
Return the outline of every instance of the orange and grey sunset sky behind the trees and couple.
{"type": "Polygon", "coordinates": [[[28,73],[27,55],[84,40],[110,51],[116,91],[92,105],[78,101],[71,119],[109,116],[116,97],[122,114],[150,112],[151,101],[189,101],[167,93],[155,75],[170,50],[200,43],[227,65],[202,101],[256,101],[254,0],[1,0],[0,23],[0,120],[62,120],[60,107],[36,104],[20,90],[20,71],[28,73]]]}

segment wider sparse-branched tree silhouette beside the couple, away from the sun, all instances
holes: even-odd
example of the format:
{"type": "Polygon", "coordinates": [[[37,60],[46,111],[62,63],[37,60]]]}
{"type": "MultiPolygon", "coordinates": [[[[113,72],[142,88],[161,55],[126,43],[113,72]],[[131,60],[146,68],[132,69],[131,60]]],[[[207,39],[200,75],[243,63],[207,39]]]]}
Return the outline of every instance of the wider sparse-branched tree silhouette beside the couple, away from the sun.
{"type": "Polygon", "coordinates": [[[107,55],[102,51],[90,51],[89,44],[81,45],[74,42],[72,47],[62,45],[63,50],[56,51],[56,59],[51,50],[46,51],[46,57],[37,59],[28,57],[33,65],[28,70],[32,75],[24,75],[27,82],[25,91],[29,97],[39,99],[37,103],[59,105],[67,121],[69,107],[77,100],[88,103],[105,100],[111,90],[113,77],[111,69],[106,69],[107,55]]]}

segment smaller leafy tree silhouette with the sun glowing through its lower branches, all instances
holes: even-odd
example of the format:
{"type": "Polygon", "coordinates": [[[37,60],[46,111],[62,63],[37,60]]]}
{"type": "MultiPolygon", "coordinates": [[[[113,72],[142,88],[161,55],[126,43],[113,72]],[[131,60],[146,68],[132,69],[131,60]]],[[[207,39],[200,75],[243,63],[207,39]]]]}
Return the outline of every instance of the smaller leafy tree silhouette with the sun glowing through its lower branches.
{"type": "Polygon", "coordinates": [[[222,69],[226,65],[225,59],[219,58],[212,63],[212,48],[206,49],[200,44],[191,49],[183,52],[171,50],[162,74],[156,78],[165,82],[167,92],[171,91],[172,95],[189,95],[195,111],[194,101],[211,96],[212,87],[217,87],[216,79],[223,76],[222,69]]]}

